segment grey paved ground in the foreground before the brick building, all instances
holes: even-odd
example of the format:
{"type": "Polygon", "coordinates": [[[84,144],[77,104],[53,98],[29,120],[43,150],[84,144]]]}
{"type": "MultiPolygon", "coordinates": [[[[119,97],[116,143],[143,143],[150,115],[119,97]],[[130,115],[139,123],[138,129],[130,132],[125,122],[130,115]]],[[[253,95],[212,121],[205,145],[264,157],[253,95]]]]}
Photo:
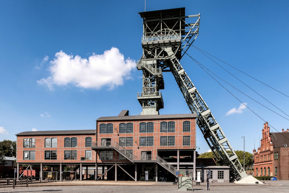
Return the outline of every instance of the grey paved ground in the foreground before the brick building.
{"type": "MultiPolygon", "coordinates": [[[[207,192],[205,183],[201,185],[193,186],[194,192],[207,192]]],[[[15,189],[12,187],[2,187],[0,192],[118,192],[118,193],[128,193],[128,192],[163,192],[163,193],[173,193],[178,191],[177,185],[166,182],[114,182],[114,181],[90,181],[90,182],[55,182],[55,183],[42,183],[41,186],[17,186],[15,189]],[[137,185],[134,185],[137,184],[137,185]]],[[[265,181],[264,185],[255,184],[235,184],[235,183],[214,183],[210,185],[210,192],[223,193],[223,192],[254,192],[254,193],[265,193],[265,192],[289,192],[289,181],[265,181]]]]}

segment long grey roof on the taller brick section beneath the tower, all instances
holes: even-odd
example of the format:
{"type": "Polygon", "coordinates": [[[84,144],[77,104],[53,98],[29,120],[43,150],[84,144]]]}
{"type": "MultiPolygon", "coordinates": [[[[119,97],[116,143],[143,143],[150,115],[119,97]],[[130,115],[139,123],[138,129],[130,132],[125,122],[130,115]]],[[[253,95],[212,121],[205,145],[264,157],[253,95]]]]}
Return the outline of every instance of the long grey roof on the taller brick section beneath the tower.
{"type": "Polygon", "coordinates": [[[180,119],[180,118],[197,118],[197,115],[190,113],[190,114],[171,114],[171,115],[114,116],[114,117],[99,117],[96,121],[146,120],[146,119],[180,119]]]}

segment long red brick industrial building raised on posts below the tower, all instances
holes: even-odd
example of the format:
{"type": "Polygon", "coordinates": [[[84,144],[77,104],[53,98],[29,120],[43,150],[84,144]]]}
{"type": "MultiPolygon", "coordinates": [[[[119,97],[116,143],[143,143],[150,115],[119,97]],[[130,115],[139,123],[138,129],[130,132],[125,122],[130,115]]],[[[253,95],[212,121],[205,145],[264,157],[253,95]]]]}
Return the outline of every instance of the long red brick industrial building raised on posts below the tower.
{"type": "Polygon", "coordinates": [[[44,166],[51,166],[61,178],[70,167],[79,179],[135,181],[174,181],[177,169],[196,171],[195,114],[129,116],[121,111],[96,122],[96,130],[16,134],[17,168],[38,164],[43,176],[44,166]]]}

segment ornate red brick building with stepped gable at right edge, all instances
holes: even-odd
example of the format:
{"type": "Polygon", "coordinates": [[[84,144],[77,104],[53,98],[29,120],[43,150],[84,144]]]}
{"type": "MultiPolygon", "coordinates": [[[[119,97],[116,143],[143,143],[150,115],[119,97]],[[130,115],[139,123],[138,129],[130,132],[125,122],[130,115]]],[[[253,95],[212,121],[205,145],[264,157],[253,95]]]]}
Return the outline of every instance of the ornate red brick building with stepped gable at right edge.
{"type": "Polygon", "coordinates": [[[270,132],[268,122],[264,123],[260,147],[253,150],[254,176],[273,176],[289,180],[289,133],[270,132]]]}

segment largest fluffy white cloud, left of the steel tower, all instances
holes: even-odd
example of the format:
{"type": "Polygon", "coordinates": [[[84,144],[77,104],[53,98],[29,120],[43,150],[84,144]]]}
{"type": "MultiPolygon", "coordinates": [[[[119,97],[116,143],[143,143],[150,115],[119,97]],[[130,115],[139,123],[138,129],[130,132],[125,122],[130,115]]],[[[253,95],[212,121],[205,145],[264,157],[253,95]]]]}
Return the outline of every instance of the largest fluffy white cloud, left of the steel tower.
{"type": "Polygon", "coordinates": [[[101,55],[93,53],[88,59],[60,51],[50,64],[48,70],[51,75],[37,80],[38,84],[47,85],[50,90],[53,90],[53,85],[67,84],[81,88],[100,89],[107,86],[113,89],[123,85],[125,79],[131,78],[131,70],[136,69],[136,61],[125,59],[115,47],[101,55]]]}

